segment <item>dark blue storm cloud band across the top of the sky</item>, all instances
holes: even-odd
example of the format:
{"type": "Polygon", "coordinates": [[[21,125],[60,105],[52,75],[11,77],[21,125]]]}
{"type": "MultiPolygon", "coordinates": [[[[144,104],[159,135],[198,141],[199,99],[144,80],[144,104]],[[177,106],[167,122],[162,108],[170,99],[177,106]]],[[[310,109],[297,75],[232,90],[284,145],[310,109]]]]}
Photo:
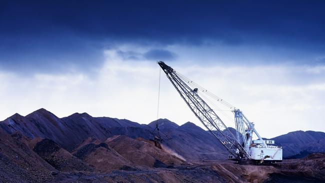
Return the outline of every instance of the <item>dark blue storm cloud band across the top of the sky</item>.
{"type": "Polygon", "coordinates": [[[87,69],[100,64],[100,51],[106,45],[119,43],[152,49],[206,42],[267,45],[312,53],[325,48],[322,0],[0,3],[0,67],[4,68],[42,69],[70,61],[87,69]]]}

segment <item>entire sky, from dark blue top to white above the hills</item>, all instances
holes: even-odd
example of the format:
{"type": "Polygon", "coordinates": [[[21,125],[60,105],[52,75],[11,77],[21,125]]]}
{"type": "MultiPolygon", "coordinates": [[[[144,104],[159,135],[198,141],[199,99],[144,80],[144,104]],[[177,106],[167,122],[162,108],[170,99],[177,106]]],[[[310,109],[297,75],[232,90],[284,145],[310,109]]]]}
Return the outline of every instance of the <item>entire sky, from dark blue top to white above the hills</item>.
{"type": "MultiPolygon", "coordinates": [[[[165,60],[260,128],[286,124],[264,136],[325,131],[323,32],[322,0],[1,0],[0,118],[45,107],[147,123],[165,60]]],[[[198,124],[162,82],[160,117],[198,124]]]]}

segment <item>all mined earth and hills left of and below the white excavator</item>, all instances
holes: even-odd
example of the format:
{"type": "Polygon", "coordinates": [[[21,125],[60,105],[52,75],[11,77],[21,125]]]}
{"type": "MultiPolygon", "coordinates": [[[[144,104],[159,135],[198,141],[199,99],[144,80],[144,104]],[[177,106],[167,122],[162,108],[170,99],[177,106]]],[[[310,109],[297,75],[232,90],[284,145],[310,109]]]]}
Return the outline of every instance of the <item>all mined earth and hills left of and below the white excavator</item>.
{"type": "Polygon", "coordinates": [[[154,123],[86,113],[58,118],[45,109],[14,114],[0,122],[0,182],[325,181],[325,153],[272,165],[236,164],[221,160],[222,146],[193,123],[160,122],[164,142],[157,147],[154,123]]]}

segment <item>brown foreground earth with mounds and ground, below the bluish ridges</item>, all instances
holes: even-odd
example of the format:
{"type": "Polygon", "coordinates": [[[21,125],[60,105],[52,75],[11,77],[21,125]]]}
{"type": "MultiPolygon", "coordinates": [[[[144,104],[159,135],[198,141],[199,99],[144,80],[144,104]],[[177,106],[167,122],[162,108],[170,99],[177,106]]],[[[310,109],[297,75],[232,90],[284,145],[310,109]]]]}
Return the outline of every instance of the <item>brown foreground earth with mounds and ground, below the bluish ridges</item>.
{"type": "MultiPolygon", "coordinates": [[[[1,134],[0,182],[322,182],[325,153],[273,165],[184,161],[150,141],[115,135],[68,152],[50,139],[1,134]]],[[[170,149],[168,149],[170,150],[170,149]]]]}

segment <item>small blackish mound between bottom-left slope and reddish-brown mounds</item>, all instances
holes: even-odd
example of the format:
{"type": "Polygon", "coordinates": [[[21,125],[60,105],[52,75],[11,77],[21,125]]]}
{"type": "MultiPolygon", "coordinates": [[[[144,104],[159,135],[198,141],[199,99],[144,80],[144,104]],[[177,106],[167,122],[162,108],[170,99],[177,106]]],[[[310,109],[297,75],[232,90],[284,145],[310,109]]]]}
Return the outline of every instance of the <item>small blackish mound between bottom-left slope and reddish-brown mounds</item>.
{"type": "Polygon", "coordinates": [[[61,148],[53,140],[42,139],[33,150],[59,171],[92,171],[93,168],[61,148]]]}

